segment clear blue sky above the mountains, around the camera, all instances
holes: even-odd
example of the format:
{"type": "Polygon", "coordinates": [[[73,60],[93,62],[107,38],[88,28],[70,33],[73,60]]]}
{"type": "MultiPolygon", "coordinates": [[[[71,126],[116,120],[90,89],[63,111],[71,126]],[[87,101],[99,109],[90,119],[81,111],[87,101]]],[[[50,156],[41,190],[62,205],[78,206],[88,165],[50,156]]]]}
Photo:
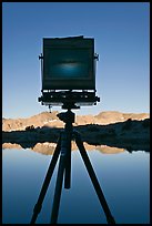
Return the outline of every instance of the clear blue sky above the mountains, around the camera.
{"type": "Polygon", "coordinates": [[[100,59],[101,102],[77,113],[149,113],[149,2],[3,2],[2,116],[28,117],[48,111],[38,102],[42,38],[71,35],[94,38],[100,59]]]}

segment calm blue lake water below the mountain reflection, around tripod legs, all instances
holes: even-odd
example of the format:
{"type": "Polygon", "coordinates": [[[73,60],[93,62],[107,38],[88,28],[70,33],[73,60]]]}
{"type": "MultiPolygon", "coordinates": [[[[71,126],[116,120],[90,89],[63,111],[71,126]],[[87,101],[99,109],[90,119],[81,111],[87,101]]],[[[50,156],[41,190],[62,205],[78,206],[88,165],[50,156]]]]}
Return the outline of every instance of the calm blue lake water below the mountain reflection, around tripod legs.
{"type": "MultiPolygon", "coordinates": [[[[150,223],[150,154],[88,152],[116,224],[150,223]]],[[[31,150],[2,151],[2,223],[30,224],[51,155],[31,150]]],[[[49,224],[58,165],[37,224],[49,224]]],[[[79,151],[72,152],[71,188],[62,188],[60,224],[107,224],[79,151]]]]}

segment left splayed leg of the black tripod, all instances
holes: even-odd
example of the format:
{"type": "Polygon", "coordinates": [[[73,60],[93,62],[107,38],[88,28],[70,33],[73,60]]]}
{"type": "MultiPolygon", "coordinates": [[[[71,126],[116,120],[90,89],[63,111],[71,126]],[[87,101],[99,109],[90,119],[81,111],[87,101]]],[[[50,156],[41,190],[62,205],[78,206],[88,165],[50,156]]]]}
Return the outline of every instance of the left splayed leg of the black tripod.
{"type": "Polygon", "coordinates": [[[42,185],[42,188],[41,188],[38,202],[37,202],[36,206],[33,208],[33,215],[32,215],[32,219],[31,219],[30,224],[34,224],[36,223],[37,217],[38,217],[38,215],[39,215],[39,213],[41,210],[42,202],[44,199],[44,196],[45,196],[45,193],[47,193],[50,179],[52,177],[52,174],[53,174],[53,171],[54,171],[54,167],[55,167],[59,154],[60,154],[60,148],[61,148],[61,136],[59,137],[57,147],[54,150],[54,153],[53,153],[53,156],[52,156],[49,170],[47,172],[47,175],[45,175],[45,178],[44,178],[44,182],[43,182],[43,185],[42,185]]]}

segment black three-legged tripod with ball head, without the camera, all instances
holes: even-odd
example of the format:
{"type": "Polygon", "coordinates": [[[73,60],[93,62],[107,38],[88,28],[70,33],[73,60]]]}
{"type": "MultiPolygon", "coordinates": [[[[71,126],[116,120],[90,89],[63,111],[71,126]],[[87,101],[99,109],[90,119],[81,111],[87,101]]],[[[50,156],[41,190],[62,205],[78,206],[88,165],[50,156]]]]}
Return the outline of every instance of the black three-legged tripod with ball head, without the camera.
{"type": "Polygon", "coordinates": [[[59,141],[57,143],[57,147],[54,150],[49,170],[47,172],[38,202],[33,208],[31,224],[36,223],[37,217],[41,210],[42,202],[44,199],[49,183],[51,181],[51,177],[52,177],[52,174],[53,174],[53,171],[54,171],[54,167],[55,167],[59,154],[60,154],[59,170],[58,170],[58,175],[57,175],[57,184],[55,184],[53,206],[52,206],[51,220],[50,220],[50,224],[57,224],[63,176],[64,176],[64,188],[69,189],[71,186],[71,141],[73,137],[78,145],[80,154],[83,158],[89,176],[92,181],[92,184],[99,197],[100,204],[102,205],[102,208],[105,213],[107,222],[109,224],[115,224],[114,218],[111,215],[110,208],[104,198],[103,192],[98,182],[98,178],[95,176],[95,173],[93,171],[93,167],[91,165],[91,162],[88,157],[84,145],[81,141],[81,136],[77,131],[73,131],[72,123],[74,123],[74,113],[71,112],[71,110],[68,110],[65,113],[58,114],[58,117],[61,121],[65,122],[65,126],[64,126],[64,130],[60,133],[59,141]]]}

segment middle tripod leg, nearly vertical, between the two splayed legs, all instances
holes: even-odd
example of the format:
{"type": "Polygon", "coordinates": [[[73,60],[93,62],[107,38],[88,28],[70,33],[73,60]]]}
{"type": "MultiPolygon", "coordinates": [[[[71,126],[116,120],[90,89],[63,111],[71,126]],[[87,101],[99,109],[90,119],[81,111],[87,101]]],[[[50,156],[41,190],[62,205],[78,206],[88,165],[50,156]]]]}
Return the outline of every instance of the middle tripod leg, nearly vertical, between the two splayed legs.
{"type": "Polygon", "coordinates": [[[61,198],[61,191],[62,191],[64,166],[65,166],[65,152],[64,150],[63,152],[61,150],[50,224],[57,224],[59,206],[60,206],[60,198],[61,198]]]}

